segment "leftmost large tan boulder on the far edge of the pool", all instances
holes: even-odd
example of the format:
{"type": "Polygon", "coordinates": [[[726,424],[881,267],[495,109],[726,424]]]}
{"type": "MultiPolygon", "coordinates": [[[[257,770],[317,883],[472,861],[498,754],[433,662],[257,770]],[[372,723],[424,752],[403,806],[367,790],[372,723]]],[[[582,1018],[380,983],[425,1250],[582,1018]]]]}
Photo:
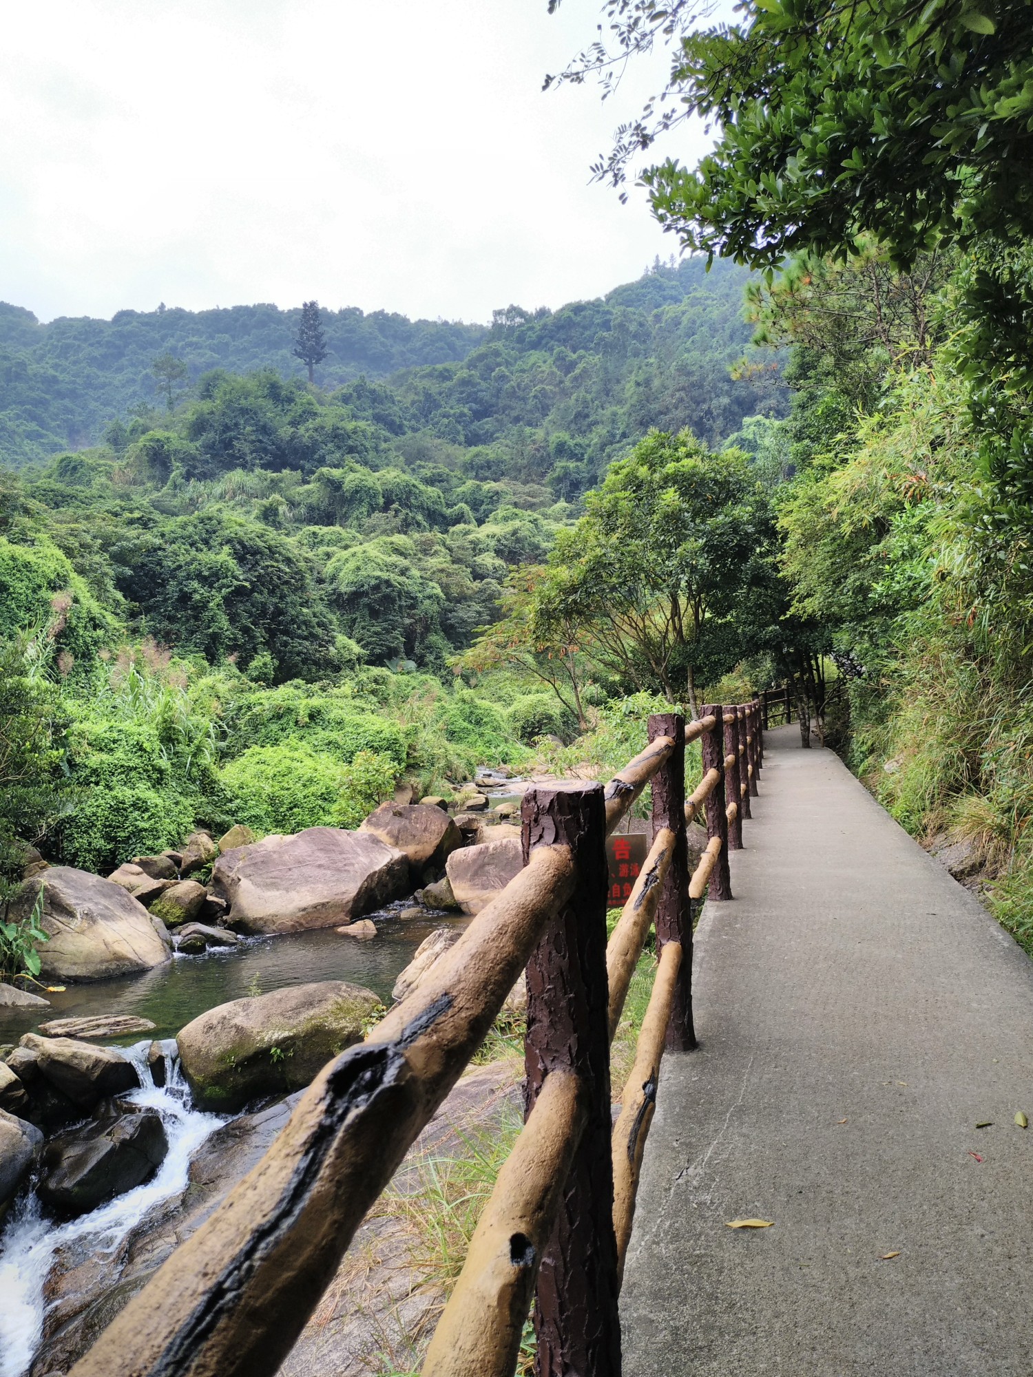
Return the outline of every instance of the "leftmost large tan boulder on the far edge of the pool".
{"type": "Polygon", "coordinates": [[[72,866],[51,866],[26,880],[11,905],[11,920],[29,917],[43,885],[39,946],[50,980],[103,980],[149,971],[168,961],[168,947],[142,903],[110,880],[72,866]]]}

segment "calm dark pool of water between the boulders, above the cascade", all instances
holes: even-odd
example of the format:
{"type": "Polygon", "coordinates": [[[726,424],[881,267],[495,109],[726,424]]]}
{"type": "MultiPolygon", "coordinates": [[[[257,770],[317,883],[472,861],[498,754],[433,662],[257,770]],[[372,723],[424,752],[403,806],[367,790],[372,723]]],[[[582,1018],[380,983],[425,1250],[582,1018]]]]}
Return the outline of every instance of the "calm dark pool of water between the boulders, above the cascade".
{"type": "MultiPolygon", "coordinates": [[[[0,1009],[0,1042],[17,1042],[48,1019],[101,1013],[136,1013],[157,1024],[156,1038],[175,1037],[205,1009],[256,993],[255,985],[262,994],[269,994],[310,980],[351,980],[390,1002],[398,972],[427,934],[442,925],[470,921],[444,913],[399,918],[399,912],[410,905],[408,899],[371,914],[377,925],[372,942],[339,936],[333,928],[249,938],[230,950],[176,956],[143,975],[69,985],[63,994],[47,994],[50,1009],[0,1009]]],[[[121,1041],[132,1042],[134,1037],[121,1041]]]]}

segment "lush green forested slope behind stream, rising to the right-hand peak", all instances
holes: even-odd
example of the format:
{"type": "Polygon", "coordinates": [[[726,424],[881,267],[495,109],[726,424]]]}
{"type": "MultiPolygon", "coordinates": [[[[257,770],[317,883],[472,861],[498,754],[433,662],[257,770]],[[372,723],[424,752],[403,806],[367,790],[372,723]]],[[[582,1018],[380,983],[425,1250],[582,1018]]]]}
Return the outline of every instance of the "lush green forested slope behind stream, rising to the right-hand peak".
{"type": "MultiPolygon", "coordinates": [[[[479,763],[528,759],[536,738],[572,739],[588,715],[624,752],[623,697],[680,693],[685,644],[657,672],[569,644],[478,668],[474,643],[658,425],[700,437],[689,476],[720,471],[705,516],[727,530],[756,507],[780,460],[711,453],[735,438],[771,449],[788,405],[775,354],[744,362],[747,280],[658,264],[602,300],[510,307],[461,361],[380,380],[328,387],[317,369],[311,386],[275,354],[208,369],[171,406],[98,413],[99,445],[17,471],[8,454],[8,841],[103,868],[198,821],[354,825],[402,777],[448,792],[479,763]],[[573,706],[550,664],[573,666],[573,706]]],[[[277,348],[292,344],[285,330],[277,348]]],[[[715,598],[707,672],[742,646],[715,598]]]]}

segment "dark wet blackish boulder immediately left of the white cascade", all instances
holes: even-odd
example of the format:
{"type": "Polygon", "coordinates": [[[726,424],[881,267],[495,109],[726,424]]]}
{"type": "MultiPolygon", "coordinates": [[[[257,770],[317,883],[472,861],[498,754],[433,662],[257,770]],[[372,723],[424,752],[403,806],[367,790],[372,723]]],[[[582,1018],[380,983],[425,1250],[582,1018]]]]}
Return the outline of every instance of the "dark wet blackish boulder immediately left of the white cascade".
{"type": "Polygon", "coordinates": [[[37,1194],[50,1209],[83,1215],[142,1186],[165,1153],[168,1137],[157,1110],[113,1107],[47,1143],[37,1194]]]}

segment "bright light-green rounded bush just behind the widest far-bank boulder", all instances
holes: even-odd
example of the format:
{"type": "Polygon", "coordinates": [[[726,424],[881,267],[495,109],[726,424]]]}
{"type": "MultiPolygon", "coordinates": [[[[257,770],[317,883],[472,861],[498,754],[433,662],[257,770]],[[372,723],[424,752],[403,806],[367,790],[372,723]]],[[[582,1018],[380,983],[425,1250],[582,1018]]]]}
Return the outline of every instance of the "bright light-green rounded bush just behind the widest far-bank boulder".
{"type": "Polygon", "coordinates": [[[361,750],[350,764],[302,739],[252,746],[222,771],[226,808],[260,832],[354,828],[391,793],[397,767],[361,750]]]}

